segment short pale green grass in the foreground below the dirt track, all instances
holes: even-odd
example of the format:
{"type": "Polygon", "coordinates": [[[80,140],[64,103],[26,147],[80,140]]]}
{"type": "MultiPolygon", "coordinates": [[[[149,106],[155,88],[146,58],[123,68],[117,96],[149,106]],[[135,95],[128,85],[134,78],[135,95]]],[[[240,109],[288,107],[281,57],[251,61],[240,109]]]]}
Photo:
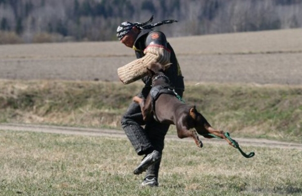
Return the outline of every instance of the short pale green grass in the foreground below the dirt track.
{"type": "Polygon", "coordinates": [[[302,152],[166,141],[160,187],[139,186],[126,138],[0,131],[0,195],[301,195],[302,152]]]}

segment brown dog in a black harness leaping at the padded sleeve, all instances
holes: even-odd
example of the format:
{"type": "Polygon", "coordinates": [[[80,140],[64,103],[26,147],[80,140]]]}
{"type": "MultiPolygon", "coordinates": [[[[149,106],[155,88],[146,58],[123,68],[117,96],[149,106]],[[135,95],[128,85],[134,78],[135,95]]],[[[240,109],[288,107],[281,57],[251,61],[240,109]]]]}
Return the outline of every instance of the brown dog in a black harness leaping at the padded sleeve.
{"type": "Polygon", "coordinates": [[[160,123],[175,125],[180,139],[193,138],[199,148],[202,148],[203,144],[198,134],[205,138],[222,138],[235,147],[222,130],[211,127],[194,105],[187,105],[177,97],[162,64],[152,63],[147,69],[149,76],[152,77],[153,87],[146,99],[133,97],[133,101],[140,105],[144,121],[155,118],[160,123]]]}

